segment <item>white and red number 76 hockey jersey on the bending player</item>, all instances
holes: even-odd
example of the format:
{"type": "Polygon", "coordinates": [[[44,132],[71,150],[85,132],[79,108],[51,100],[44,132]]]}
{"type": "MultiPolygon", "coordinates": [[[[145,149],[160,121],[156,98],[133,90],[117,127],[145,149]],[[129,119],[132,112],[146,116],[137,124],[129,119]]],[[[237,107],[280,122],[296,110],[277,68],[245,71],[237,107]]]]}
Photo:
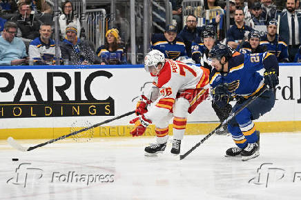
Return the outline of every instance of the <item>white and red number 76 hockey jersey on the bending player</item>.
{"type": "Polygon", "coordinates": [[[191,101],[189,101],[191,106],[193,106],[197,98],[204,94],[210,87],[208,82],[208,74],[206,74],[202,68],[193,65],[190,66],[181,61],[166,59],[164,67],[159,74],[154,77],[153,82],[153,84],[159,88],[159,90],[157,90],[159,95],[154,95],[154,90],[145,95],[151,100],[153,100],[152,96],[159,96],[153,103],[154,106],[145,114],[145,117],[154,122],[154,120],[157,121],[161,117],[166,116],[168,112],[172,112],[175,99],[179,97],[181,92],[185,92],[186,90],[200,91],[200,94],[197,94],[199,95],[198,97],[197,95],[193,95],[195,100],[191,99],[191,101]],[[202,89],[204,89],[204,91],[202,89]]]}

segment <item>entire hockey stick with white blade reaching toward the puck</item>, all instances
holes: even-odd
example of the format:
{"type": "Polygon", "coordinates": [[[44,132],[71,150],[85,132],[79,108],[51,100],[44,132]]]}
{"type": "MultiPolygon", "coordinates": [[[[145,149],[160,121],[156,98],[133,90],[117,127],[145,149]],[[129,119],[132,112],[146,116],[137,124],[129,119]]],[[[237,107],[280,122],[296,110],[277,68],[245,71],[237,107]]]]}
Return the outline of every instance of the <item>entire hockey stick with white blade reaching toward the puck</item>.
{"type": "Polygon", "coordinates": [[[119,115],[117,117],[114,117],[113,119],[107,119],[106,121],[103,121],[103,122],[100,122],[100,123],[96,123],[93,126],[89,126],[89,127],[83,128],[81,130],[77,130],[75,132],[71,132],[69,134],[65,134],[65,135],[63,135],[61,137],[58,137],[56,139],[51,139],[50,141],[46,141],[45,143],[40,143],[40,144],[38,144],[36,146],[31,146],[29,148],[21,146],[21,144],[17,143],[17,141],[15,141],[12,137],[8,137],[8,143],[10,144],[10,146],[12,146],[12,148],[20,150],[22,152],[26,152],[26,151],[34,150],[35,148],[39,148],[41,146],[46,146],[48,143],[54,143],[55,141],[58,141],[58,140],[61,140],[61,139],[65,139],[66,137],[70,137],[71,135],[78,134],[79,132],[84,132],[84,131],[89,130],[91,128],[95,128],[97,126],[101,126],[101,125],[103,125],[105,123],[110,123],[111,121],[115,121],[116,119],[120,119],[122,117],[126,117],[126,116],[128,116],[130,114],[133,114],[133,113],[135,113],[135,110],[130,111],[130,112],[126,112],[125,114],[122,114],[122,115],[119,115]]]}

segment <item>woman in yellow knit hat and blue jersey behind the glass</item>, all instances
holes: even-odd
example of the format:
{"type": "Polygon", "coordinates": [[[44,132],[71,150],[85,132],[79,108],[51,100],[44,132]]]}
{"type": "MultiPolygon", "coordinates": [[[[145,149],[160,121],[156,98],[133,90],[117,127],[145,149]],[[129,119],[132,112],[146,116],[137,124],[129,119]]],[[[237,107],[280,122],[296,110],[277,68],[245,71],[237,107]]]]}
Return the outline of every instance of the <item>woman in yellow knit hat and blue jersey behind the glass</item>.
{"type": "Polygon", "coordinates": [[[106,42],[97,49],[96,54],[100,58],[101,65],[126,64],[126,54],[117,29],[112,28],[106,32],[106,42]]]}

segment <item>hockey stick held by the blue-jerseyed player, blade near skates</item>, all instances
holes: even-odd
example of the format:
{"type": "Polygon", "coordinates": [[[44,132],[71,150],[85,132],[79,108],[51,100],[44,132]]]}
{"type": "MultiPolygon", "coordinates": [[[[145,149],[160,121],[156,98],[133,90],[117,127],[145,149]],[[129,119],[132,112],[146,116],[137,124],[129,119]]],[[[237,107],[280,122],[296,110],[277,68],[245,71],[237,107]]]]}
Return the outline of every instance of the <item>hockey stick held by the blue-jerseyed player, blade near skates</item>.
{"type": "Polygon", "coordinates": [[[227,119],[225,119],[222,123],[220,123],[220,125],[217,126],[217,128],[215,128],[215,130],[213,130],[211,133],[207,134],[206,137],[204,137],[201,141],[199,141],[198,143],[196,143],[195,146],[193,146],[186,153],[180,155],[179,159],[182,160],[185,157],[187,157],[188,154],[190,154],[191,152],[193,152],[193,150],[195,150],[198,146],[200,146],[201,143],[203,143],[206,139],[208,139],[209,137],[211,137],[211,135],[213,135],[222,126],[226,125],[231,119],[233,119],[233,117],[235,117],[238,113],[240,113],[242,110],[244,110],[244,108],[246,108],[246,106],[249,106],[251,103],[253,103],[253,101],[255,101],[255,99],[257,99],[258,97],[260,97],[260,95],[263,94],[263,92],[265,92],[267,89],[268,88],[266,86],[264,86],[264,88],[262,88],[262,90],[260,90],[260,92],[258,94],[255,94],[253,97],[251,97],[251,99],[249,99],[249,101],[246,104],[244,104],[244,106],[242,106],[240,109],[238,109],[235,112],[233,112],[232,114],[230,114],[227,119]]]}

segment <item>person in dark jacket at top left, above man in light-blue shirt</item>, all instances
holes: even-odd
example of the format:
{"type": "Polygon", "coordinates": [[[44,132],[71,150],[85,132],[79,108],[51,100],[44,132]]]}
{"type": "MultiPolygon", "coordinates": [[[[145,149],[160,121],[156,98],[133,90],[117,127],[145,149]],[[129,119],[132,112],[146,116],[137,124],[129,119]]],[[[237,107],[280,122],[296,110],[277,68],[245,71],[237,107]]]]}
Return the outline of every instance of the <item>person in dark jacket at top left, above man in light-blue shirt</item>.
{"type": "Polygon", "coordinates": [[[11,21],[17,23],[17,37],[22,37],[22,40],[28,46],[30,41],[39,37],[39,28],[41,21],[31,14],[31,6],[25,2],[19,3],[19,15],[12,17],[11,21]]]}

